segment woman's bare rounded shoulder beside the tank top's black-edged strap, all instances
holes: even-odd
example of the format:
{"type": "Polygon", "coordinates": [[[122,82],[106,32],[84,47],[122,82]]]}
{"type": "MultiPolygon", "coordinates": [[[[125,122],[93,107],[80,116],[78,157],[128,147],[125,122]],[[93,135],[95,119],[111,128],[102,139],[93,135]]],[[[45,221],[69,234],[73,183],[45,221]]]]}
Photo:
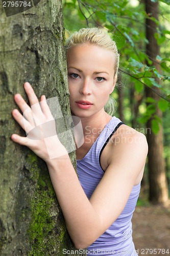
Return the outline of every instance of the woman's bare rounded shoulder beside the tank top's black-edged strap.
{"type": "Polygon", "coordinates": [[[103,169],[112,162],[134,161],[138,158],[145,162],[148,154],[148,143],[145,135],[132,127],[122,124],[109,139],[101,156],[103,169]]]}

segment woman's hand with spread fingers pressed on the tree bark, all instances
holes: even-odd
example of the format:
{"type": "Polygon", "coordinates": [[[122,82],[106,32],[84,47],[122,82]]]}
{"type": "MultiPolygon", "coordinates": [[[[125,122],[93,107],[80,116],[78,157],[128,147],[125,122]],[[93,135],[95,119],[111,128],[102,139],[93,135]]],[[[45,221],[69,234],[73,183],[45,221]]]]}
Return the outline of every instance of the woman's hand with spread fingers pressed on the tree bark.
{"type": "Polygon", "coordinates": [[[41,96],[40,102],[29,82],[24,84],[30,106],[20,94],[14,96],[14,100],[23,115],[17,110],[12,111],[12,116],[26,131],[27,137],[12,134],[11,139],[28,146],[37,156],[48,162],[67,154],[56,133],[55,120],[46,103],[45,96],[41,96]]]}

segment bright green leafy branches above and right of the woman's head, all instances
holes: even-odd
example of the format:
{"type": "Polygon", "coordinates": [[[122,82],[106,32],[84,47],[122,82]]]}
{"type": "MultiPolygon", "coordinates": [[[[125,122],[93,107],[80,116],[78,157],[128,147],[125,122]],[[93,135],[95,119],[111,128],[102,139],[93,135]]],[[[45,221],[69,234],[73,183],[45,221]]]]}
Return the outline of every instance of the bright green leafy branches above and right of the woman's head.
{"type": "MultiPolygon", "coordinates": [[[[143,4],[134,1],[111,1],[90,0],[66,0],[63,2],[65,27],[69,31],[75,31],[81,27],[101,26],[106,28],[111,37],[116,41],[120,49],[120,73],[123,77],[129,76],[129,87],[134,87],[139,94],[144,94],[144,87],[149,87],[162,99],[158,107],[162,111],[169,109],[170,90],[168,83],[170,81],[170,59],[168,58],[170,31],[165,24],[159,24],[152,15],[148,16],[144,11],[143,4]],[[132,5],[131,5],[132,4],[132,5]],[[71,15],[70,15],[71,14],[71,15]],[[145,45],[148,44],[145,38],[144,26],[145,19],[149,18],[157,24],[155,38],[158,44],[168,44],[168,50],[162,56],[157,56],[151,61],[145,53],[145,45]],[[71,22],[70,22],[71,19],[71,22]],[[69,22],[68,22],[69,21],[69,22]],[[159,63],[161,71],[154,66],[154,61],[159,63]],[[147,66],[147,62],[150,66],[147,66]],[[167,102],[166,102],[167,101],[167,102]]],[[[156,1],[154,1],[156,2],[156,1]]],[[[162,1],[170,5],[169,1],[162,1]]],[[[163,15],[162,15],[163,16],[163,15]]],[[[169,24],[168,24],[169,25],[169,24]]],[[[159,131],[159,121],[154,115],[153,102],[145,109],[143,118],[138,121],[147,121],[153,119],[153,132],[159,131]]],[[[150,102],[148,101],[148,104],[150,102]]]]}

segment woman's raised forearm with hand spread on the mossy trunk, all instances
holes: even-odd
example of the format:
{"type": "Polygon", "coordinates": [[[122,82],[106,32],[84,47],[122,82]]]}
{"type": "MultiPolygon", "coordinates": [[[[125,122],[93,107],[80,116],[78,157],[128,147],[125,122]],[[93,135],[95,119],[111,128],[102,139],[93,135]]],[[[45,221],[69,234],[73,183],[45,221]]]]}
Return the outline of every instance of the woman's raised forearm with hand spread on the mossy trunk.
{"type": "MultiPolygon", "coordinates": [[[[44,123],[52,120],[52,115],[45,101],[45,97],[41,97],[40,102],[42,104],[41,108],[39,108],[38,98],[31,85],[25,83],[24,88],[31,106],[37,104],[34,117],[36,115],[36,118],[39,119],[38,122],[44,123]]],[[[25,112],[26,115],[23,117],[23,115],[16,109],[12,111],[12,115],[22,129],[27,130],[26,132],[29,133],[34,126],[32,109],[20,94],[16,94],[14,100],[22,113],[25,112]]],[[[35,136],[36,135],[37,134],[35,134],[35,136]]],[[[41,139],[29,139],[28,136],[21,137],[17,134],[13,134],[11,139],[20,145],[28,146],[37,156],[46,162],[58,202],[65,218],[68,232],[72,241],[75,243],[75,246],[82,248],[86,247],[84,246],[84,242],[85,244],[91,244],[93,240],[91,240],[91,238],[97,238],[95,230],[100,221],[96,218],[96,212],[87,199],[68,153],[59,141],[58,136],[55,135],[50,137],[49,141],[46,142],[44,141],[43,136],[41,136],[41,139]],[[51,152],[55,152],[55,155],[59,155],[59,157],[50,159],[46,146],[47,143],[48,149],[51,147],[51,152]],[[89,230],[91,228],[94,230],[94,234],[90,231],[90,237],[89,230]],[[87,241],[85,237],[87,238],[87,241]]]]}

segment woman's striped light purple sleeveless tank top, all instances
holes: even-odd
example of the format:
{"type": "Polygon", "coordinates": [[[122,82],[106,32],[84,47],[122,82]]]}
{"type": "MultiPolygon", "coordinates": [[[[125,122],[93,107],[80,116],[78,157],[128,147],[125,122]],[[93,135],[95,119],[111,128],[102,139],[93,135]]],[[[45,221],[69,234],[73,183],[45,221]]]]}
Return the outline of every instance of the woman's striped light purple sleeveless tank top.
{"type": "MultiPolygon", "coordinates": [[[[112,117],[104,130],[95,140],[88,153],[77,160],[77,172],[79,181],[88,198],[91,197],[95,187],[99,184],[104,175],[100,164],[100,155],[118,127],[123,124],[118,118],[112,117]]],[[[135,210],[140,192],[140,183],[133,186],[128,202],[116,221],[87,248],[87,255],[137,255],[132,241],[132,215],[135,210]]],[[[121,186],[120,186],[121,193],[121,186]]]]}

